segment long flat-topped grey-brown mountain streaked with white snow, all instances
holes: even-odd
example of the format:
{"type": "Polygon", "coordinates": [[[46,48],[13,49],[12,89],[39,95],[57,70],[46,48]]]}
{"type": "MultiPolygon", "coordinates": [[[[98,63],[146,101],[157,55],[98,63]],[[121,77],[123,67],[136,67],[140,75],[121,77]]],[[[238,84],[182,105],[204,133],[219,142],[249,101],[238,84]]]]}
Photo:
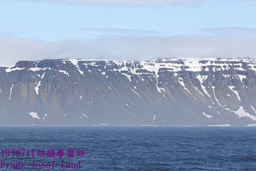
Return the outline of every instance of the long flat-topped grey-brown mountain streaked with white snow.
{"type": "Polygon", "coordinates": [[[256,58],[57,59],[0,67],[0,125],[256,123],[256,58]]]}

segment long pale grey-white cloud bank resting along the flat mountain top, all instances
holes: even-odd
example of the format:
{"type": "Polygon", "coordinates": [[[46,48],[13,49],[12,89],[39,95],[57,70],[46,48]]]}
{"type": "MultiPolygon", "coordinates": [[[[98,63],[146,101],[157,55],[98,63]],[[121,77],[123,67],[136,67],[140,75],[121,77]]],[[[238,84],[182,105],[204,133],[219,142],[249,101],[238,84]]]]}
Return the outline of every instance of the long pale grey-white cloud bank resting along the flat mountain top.
{"type": "Polygon", "coordinates": [[[0,65],[45,58],[145,60],[157,57],[256,56],[256,38],[202,35],[115,36],[91,41],[33,41],[0,36],[0,65]]]}

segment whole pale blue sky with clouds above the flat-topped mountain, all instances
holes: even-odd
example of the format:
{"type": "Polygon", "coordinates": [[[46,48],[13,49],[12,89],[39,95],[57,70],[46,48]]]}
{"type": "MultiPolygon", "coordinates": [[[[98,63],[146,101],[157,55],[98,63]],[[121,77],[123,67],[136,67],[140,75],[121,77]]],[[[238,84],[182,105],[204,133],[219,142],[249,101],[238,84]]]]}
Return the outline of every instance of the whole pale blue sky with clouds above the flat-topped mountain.
{"type": "Polygon", "coordinates": [[[0,0],[0,66],[256,57],[255,20],[256,0],[0,0]]]}

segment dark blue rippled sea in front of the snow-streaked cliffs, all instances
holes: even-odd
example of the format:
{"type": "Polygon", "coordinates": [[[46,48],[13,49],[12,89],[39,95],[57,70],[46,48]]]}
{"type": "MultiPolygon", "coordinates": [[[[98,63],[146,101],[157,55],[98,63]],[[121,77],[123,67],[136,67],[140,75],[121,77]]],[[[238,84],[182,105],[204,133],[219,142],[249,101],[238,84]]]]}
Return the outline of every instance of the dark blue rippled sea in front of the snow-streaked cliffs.
{"type": "Polygon", "coordinates": [[[1,157],[25,162],[23,171],[60,171],[61,161],[80,161],[81,168],[67,169],[73,171],[256,171],[256,128],[0,127],[2,149],[36,151],[35,157],[1,157]],[[64,151],[63,158],[37,156],[38,150],[58,149],[64,151]],[[67,149],[74,150],[73,158],[67,157],[67,149]],[[84,157],[77,157],[77,150],[84,157]],[[30,169],[32,161],[53,160],[54,169],[30,169]]]}

